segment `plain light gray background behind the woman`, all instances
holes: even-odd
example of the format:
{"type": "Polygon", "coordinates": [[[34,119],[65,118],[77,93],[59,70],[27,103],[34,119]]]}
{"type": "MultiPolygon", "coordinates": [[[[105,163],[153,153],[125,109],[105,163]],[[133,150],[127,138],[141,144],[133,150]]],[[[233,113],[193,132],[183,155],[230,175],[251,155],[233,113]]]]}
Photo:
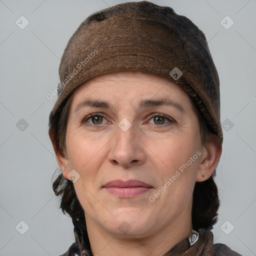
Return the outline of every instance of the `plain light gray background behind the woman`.
{"type": "MultiPolygon", "coordinates": [[[[79,24],[122,2],[127,1],[0,0],[0,255],[56,256],[74,241],[71,218],[58,210],[51,188],[57,163],[47,123],[56,96],[48,100],[46,94],[59,81],[60,57],[79,24]],[[21,15],[29,21],[24,29],[15,23],[24,25],[21,15]],[[24,234],[19,233],[25,231],[21,220],[29,226],[24,234]]],[[[221,122],[227,129],[215,179],[221,206],[214,243],[256,255],[256,1],[152,2],[171,6],[205,33],[219,74],[221,122]],[[220,23],[226,15],[234,21],[229,29],[220,23]]]]}

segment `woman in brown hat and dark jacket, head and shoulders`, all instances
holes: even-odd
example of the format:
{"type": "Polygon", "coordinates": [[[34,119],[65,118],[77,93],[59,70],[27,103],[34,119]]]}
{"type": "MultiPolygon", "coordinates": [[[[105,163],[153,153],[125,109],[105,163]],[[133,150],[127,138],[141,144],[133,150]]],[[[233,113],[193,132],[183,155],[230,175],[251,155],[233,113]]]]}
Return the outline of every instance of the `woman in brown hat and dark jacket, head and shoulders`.
{"type": "Polygon", "coordinates": [[[63,255],[240,255],[213,244],[219,79],[202,31],[141,1],[91,14],[59,66],[53,183],[74,224],[63,255]]]}

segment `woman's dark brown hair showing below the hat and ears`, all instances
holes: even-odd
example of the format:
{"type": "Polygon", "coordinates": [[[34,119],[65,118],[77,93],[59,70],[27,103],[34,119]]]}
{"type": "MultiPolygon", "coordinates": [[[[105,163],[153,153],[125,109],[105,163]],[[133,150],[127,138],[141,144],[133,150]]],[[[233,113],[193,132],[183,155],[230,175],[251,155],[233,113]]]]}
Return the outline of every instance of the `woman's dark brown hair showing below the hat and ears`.
{"type": "MultiPolygon", "coordinates": [[[[64,149],[66,148],[65,134],[73,92],[74,91],[72,91],[62,102],[49,127],[49,135],[52,143],[55,143],[57,150],[63,154],[64,149]]],[[[212,128],[207,125],[207,122],[202,114],[197,110],[194,103],[193,106],[199,119],[201,141],[204,143],[209,134],[215,133],[212,128]]],[[[192,226],[194,230],[198,230],[199,228],[206,228],[210,230],[217,222],[217,210],[220,202],[218,198],[217,186],[213,180],[215,175],[216,172],[214,170],[212,175],[207,180],[195,182],[192,203],[192,226]]],[[[52,188],[55,195],[61,196],[59,208],[62,209],[64,214],[65,212],[68,213],[72,218],[74,226],[78,226],[81,231],[85,231],[85,234],[87,235],[84,210],[78,201],[72,181],[65,179],[61,173],[53,182],[52,188]]]]}

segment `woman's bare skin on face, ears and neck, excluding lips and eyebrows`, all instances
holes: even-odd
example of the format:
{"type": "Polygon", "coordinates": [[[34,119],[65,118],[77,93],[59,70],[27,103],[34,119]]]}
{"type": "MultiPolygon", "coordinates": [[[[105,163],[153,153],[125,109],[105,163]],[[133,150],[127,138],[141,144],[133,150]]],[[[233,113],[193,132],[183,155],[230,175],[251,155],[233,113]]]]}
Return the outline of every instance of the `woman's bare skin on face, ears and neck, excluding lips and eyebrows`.
{"type": "Polygon", "coordinates": [[[201,143],[191,100],[174,82],[141,72],[116,72],[75,90],[64,152],[67,158],[55,149],[56,159],[65,178],[75,170],[74,188],[85,211],[92,253],[146,256],[163,255],[189,236],[194,184],[212,174],[221,144],[214,136],[201,143]],[[139,107],[141,100],[163,97],[183,111],[173,105],[139,107]],[[84,106],[75,111],[88,98],[109,101],[111,108],[84,106]],[[188,162],[190,157],[193,161],[188,162]],[[179,167],[190,162],[174,180],[179,167]],[[151,188],[120,197],[103,187],[113,179],[138,179],[151,188]]]}

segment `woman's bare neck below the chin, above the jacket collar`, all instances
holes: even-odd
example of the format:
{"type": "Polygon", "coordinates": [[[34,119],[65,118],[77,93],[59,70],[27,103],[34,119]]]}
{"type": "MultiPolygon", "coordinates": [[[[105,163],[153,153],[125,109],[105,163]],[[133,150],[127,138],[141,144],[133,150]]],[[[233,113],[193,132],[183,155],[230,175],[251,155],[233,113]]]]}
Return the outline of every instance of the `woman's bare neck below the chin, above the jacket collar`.
{"type": "Polygon", "coordinates": [[[157,232],[145,234],[142,238],[141,235],[137,238],[136,234],[123,237],[107,232],[85,214],[92,255],[162,256],[192,231],[191,211],[183,212],[171,223],[158,228],[157,232]]]}

